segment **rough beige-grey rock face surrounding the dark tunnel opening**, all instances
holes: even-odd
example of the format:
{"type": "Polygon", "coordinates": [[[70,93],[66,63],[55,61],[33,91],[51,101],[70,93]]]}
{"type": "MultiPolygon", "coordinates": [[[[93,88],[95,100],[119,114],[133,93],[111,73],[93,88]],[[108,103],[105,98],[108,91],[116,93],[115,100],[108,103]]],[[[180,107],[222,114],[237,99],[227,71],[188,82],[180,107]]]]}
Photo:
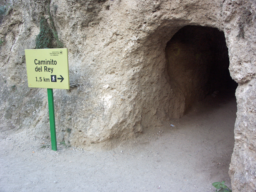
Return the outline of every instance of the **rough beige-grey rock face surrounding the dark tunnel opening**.
{"type": "Polygon", "coordinates": [[[50,134],[46,89],[27,87],[25,66],[24,50],[35,48],[42,17],[53,18],[69,50],[71,89],[54,90],[57,139],[86,149],[181,117],[185,98],[171,89],[167,42],[187,25],[224,32],[239,84],[232,188],[256,190],[254,0],[14,0],[0,26],[1,131],[50,134]]]}

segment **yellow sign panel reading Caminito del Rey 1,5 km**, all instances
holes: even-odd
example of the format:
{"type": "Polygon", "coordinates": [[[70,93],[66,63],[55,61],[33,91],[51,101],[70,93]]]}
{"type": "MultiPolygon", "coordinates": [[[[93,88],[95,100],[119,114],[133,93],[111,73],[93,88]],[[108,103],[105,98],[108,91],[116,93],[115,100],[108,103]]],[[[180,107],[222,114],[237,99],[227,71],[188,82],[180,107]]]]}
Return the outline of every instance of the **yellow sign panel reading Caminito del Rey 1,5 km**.
{"type": "Polygon", "coordinates": [[[28,87],[69,89],[67,48],[26,49],[28,87]]]}

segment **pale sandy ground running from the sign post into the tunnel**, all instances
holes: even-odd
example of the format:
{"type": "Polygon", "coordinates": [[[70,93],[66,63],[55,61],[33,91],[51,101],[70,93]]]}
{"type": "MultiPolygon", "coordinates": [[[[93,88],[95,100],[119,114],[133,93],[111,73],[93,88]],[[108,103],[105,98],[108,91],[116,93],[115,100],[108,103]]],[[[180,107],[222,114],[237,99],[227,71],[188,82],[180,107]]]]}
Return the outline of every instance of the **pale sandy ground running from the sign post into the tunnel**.
{"type": "Polygon", "coordinates": [[[221,93],[108,151],[0,133],[0,192],[214,192],[233,152],[236,100],[221,93]],[[171,126],[174,125],[173,126],[171,126]]]}

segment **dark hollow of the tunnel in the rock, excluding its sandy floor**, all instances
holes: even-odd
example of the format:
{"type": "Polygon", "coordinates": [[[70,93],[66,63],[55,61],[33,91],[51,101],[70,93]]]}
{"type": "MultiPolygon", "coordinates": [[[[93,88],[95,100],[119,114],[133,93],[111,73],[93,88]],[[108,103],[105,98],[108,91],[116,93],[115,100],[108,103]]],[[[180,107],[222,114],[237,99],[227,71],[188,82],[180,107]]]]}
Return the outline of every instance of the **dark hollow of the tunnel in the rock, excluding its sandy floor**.
{"type": "Polygon", "coordinates": [[[218,29],[187,25],[174,34],[165,52],[171,91],[179,103],[174,118],[207,95],[234,93],[237,84],[230,77],[224,33],[218,29]]]}

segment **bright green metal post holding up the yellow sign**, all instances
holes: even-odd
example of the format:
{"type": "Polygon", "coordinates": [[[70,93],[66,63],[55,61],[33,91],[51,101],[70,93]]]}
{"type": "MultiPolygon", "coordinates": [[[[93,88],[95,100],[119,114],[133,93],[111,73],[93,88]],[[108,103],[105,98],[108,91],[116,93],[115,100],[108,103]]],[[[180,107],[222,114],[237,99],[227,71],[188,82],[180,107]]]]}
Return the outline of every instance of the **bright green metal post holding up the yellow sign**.
{"type": "Polygon", "coordinates": [[[53,102],[53,89],[47,89],[47,93],[48,93],[48,105],[49,105],[50,133],[51,133],[52,150],[57,151],[54,102],[53,102]]]}

